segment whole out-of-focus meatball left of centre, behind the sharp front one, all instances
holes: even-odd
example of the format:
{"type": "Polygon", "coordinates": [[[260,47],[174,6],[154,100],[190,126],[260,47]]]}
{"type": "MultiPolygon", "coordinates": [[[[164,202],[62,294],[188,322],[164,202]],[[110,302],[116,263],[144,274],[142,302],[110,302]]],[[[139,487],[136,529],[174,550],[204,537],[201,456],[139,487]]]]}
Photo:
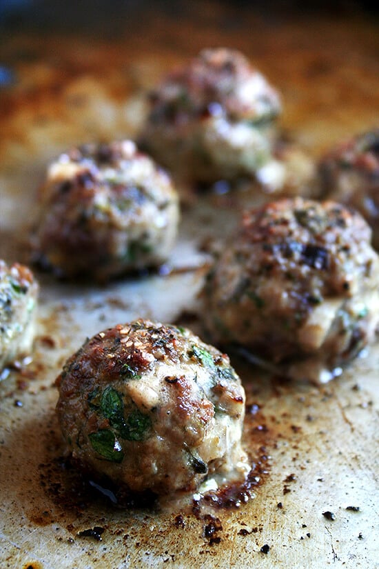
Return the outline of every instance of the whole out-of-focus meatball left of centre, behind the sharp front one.
{"type": "Polygon", "coordinates": [[[66,277],[105,280],[158,266],[176,238],[170,178],[130,140],[61,154],[48,170],[41,206],[39,260],[66,277]]]}

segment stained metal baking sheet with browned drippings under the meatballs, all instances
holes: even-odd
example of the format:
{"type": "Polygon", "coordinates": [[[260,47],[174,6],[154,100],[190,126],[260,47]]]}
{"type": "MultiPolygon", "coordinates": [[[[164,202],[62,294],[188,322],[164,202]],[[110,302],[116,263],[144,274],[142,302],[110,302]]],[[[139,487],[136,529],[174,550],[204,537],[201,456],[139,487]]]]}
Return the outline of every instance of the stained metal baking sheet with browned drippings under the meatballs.
{"type": "MultiPolygon", "coordinates": [[[[28,259],[46,163],[72,143],[133,136],[144,90],[205,46],[239,48],[256,63],[283,93],[284,128],[315,157],[377,123],[375,22],[239,10],[205,2],[180,21],[147,13],[143,34],[125,19],[125,33],[112,39],[3,34],[1,63],[16,79],[0,90],[1,257],[28,259]]],[[[232,230],[246,201],[245,194],[207,194],[187,204],[167,274],[100,288],[36,270],[33,361],[0,381],[1,567],[378,567],[378,345],[325,386],[280,382],[232,355],[247,391],[245,443],[267,457],[268,473],[254,499],[212,512],[221,525],[212,536],[206,519],[178,519],[175,508],[112,506],[62,458],[54,379],[65,358],[85,337],[134,317],[179,320],[198,332],[194,314],[209,261],[203,246],[232,230]],[[96,531],[80,535],[93,528],[103,529],[101,541],[96,531]]]]}

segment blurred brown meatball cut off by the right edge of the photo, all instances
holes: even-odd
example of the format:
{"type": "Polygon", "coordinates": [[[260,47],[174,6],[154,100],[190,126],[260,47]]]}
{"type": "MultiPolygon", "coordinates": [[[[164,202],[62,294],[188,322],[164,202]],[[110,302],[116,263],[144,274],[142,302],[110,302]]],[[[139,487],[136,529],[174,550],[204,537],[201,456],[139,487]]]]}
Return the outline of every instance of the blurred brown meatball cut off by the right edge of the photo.
{"type": "Polygon", "coordinates": [[[356,208],[379,249],[379,128],[331,150],[322,157],[319,172],[323,194],[356,208]]]}

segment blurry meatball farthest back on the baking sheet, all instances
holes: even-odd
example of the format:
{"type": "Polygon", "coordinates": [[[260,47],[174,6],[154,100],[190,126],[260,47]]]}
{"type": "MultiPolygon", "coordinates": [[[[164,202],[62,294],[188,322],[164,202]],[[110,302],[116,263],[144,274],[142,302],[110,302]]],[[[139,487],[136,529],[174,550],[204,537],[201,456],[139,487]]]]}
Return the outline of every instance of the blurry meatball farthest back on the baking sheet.
{"type": "Polygon", "coordinates": [[[150,102],[143,148],[183,179],[251,177],[270,158],[279,96],[238,51],[201,51],[150,102]]]}

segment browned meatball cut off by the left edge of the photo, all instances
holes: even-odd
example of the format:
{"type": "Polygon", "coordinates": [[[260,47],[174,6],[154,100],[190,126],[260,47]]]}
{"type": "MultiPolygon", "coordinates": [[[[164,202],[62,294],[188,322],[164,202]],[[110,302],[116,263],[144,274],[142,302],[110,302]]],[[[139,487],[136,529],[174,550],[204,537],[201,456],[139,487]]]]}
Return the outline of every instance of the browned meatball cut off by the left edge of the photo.
{"type": "Polygon", "coordinates": [[[0,369],[32,349],[37,294],[27,267],[0,261],[0,369]]]}

